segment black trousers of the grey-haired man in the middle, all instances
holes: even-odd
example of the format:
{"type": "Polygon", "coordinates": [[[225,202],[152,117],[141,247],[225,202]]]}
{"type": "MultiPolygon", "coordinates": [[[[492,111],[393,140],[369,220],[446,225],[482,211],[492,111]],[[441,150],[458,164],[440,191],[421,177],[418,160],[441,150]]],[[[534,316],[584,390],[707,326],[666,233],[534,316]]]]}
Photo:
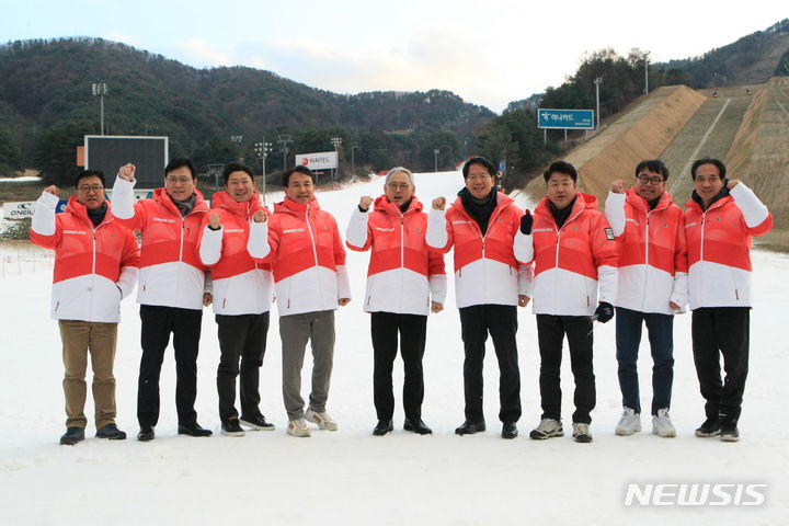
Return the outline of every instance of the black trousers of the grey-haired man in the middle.
{"type": "Polygon", "coordinates": [[[403,411],[405,418],[419,421],[422,418],[424,379],[422,356],[424,356],[427,317],[419,315],[396,315],[373,312],[370,333],[373,335],[373,400],[378,420],[389,421],[395,412],[392,393],[392,366],[397,357],[398,333],[400,354],[403,359],[403,411]]]}

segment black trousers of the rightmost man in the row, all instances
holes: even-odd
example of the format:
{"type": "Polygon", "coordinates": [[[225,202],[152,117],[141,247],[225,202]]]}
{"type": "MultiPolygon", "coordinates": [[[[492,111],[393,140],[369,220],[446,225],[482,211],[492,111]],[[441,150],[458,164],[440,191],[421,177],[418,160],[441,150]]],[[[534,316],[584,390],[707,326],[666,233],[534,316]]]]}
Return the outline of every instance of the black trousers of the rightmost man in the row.
{"type": "Polygon", "coordinates": [[[751,309],[711,307],[693,311],[694,363],[708,419],[736,425],[748,363],[751,309]],[[725,380],[721,381],[720,355],[725,380]]]}

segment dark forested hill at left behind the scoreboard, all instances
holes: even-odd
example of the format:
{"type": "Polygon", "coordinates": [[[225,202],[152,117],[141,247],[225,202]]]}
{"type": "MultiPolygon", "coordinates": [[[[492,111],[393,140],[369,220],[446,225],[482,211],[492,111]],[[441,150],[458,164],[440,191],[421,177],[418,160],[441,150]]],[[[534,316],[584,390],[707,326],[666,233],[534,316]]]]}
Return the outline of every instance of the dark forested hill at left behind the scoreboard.
{"type": "MultiPolygon", "coordinates": [[[[468,134],[494,115],[447,91],[341,95],[271,71],[195,69],[125,44],[84,37],[0,46],[0,127],[5,124],[19,135],[35,125],[41,134],[56,123],[98,122],[93,82],[110,89],[108,134],[168,135],[174,153],[191,155],[216,137],[260,140],[309,127],[392,132],[430,125],[468,134]]],[[[26,139],[18,141],[24,146],[26,139]]]]}

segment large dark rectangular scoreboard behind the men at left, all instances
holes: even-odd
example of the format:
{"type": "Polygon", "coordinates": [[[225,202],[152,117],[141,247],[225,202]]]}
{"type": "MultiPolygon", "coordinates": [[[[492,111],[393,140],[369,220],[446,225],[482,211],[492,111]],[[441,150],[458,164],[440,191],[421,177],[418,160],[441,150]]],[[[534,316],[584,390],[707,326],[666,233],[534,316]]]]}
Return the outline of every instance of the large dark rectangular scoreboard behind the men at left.
{"type": "Polygon", "coordinates": [[[104,172],[110,186],[115,180],[118,168],[132,162],[137,167],[136,187],[157,188],[162,185],[168,159],[168,137],[84,136],[84,168],[104,172]]]}

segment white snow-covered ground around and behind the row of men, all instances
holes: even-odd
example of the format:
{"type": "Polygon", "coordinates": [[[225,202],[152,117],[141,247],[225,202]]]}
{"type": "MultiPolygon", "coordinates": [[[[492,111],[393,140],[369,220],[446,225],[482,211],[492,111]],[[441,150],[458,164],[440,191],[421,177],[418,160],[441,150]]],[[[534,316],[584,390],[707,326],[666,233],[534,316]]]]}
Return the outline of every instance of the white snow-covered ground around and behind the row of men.
{"type": "MultiPolygon", "coordinates": [[[[419,174],[416,194],[425,206],[448,201],[462,184],[457,172],[419,174]]],[[[321,206],[341,230],[364,194],[378,196],[382,181],[321,192],[321,206]]],[[[279,201],[272,195],[268,199],[279,201]]],[[[528,203],[522,201],[522,205],[528,203]]],[[[277,425],[272,433],[241,438],[219,435],[215,387],[218,344],[210,311],[203,321],[197,414],[215,431],[210,438],[176,435],[174,364],[169,351],[162,370],[162,414],[157,439],[139,443],[136,379],[139,316],[134,298],[123,304],[124,321],[115,374],[118,425],[125,442],[88,438],[58,445],[64,432],[62,364],[55,321],[49,320],[50,271],[0,279],[0,514],[3,524],[786,524],[789,510],[789,447],[782,434],[786,381],[786,298],[789,259],[754,252],[756,308],[752,315],[751,373],[740,423],[742,441],[724,444],[693,435],[704,420],[690,352],[690,318],[675,322],[672,418],[676,438],[644,432],[614,435],[620,413],[614,323],[595,329],[597,408],[594,443],[564,436],[530,441],[539,420],[537,336],[530,310],[519,311],[521,437],[504,441],[496,414],[498,367],[490,347],[485,369],[489,431],[459,437],[462,418],[462,346],[451,286],[444,312],[427,328],[423,415],[432,436],[404,433],[400,396],[396,431],[373,437],[373,358],[364,293],[368,253],[348,251],[355,299],[338,311],[335,365],[329,411],[336,433],[313,431],[307,439],[285,434],[281,395],[279,335],[272,317],[261,374],[261,409],[277,425]],[[492,356],[492,357],[491,357],[492,356]],[[628,483],[764,483],[766,502],[744,506],[625,506],[628,483]]],[[[451,271],[451,256],[447,256],[451,271]]],[[[451,282],[451,278],[450,278],[451,282]]],[[[644,335],[645,340],[645,335],[644,335]]],[[[305,365],[305,392],[309,384],[305,365]]],[[[649,407],[649,347],[642,343],[642,404],[649,407]]],[[[402,366],[396,366],[396,392],[402,366]]],[[[569,358],[562,370],[565,427],[572,412],[569,358]]],[[[85,414],[91,420],[92,401],[85,414]]],[[[92,423],[87,430],[92,436],[92,423]]]]}

